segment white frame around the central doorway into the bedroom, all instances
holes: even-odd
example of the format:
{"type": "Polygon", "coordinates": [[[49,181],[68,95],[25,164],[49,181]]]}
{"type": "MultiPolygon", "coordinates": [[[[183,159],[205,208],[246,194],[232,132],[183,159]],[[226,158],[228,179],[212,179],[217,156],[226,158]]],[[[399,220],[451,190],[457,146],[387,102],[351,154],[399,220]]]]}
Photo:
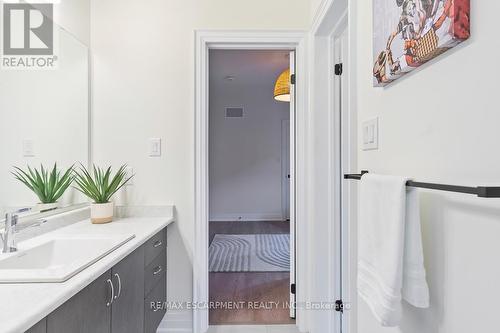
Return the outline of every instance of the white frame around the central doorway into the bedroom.
{"type": "MultiPolygon", "coordinates": [[[[195,243],[193,253],[193,333],[208,330],[208,51],[210,49],[283,49],[296,52],[296,192],[297,302],[307,300],[307,33],[303,31],[195,31],[195,243]]],[[[306,329],[305,309],[297,309],[296,324],[306,329]]]]}

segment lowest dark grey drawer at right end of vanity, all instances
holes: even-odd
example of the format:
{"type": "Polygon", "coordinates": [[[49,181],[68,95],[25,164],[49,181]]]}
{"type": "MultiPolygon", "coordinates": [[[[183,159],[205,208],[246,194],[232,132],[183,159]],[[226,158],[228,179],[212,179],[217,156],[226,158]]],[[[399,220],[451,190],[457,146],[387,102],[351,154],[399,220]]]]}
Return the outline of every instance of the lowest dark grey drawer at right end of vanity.
{"type": "Polygon", "coordinates": [[[165,280],[165,274],[163,279],[153,288],[149,296],[145,300],[144,304],[144,332],[145,333],[155,333],[156,329],[160,325],[163,316],[165,316],[166,307],[164,302],[167,299],[167,284],[165,280]],[[157,302],[160,302],[157,304],[157,302]],[[154,306],[152,306],[154,303],[154,306]],[[160,305],[160,307],[158,307],[160,305]]]}

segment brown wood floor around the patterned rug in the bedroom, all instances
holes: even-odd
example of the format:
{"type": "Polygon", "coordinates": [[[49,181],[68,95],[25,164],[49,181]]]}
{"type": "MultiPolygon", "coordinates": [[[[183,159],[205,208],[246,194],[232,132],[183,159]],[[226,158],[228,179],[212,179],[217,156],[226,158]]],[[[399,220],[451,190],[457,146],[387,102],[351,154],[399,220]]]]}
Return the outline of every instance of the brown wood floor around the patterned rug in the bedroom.
{"type": "MultiPolygon", "coordinates": [[[[284,234],[287,222],[210,222],[210,242],[215,234],[284,234]]],[[[210,273],[210,325],[293,324],[289,316],[289,272],[210,273]],[[228,303],[230,302],[230,303],[228,303]],[[232,308],[223,308],[232,306],[232,308]]]]}

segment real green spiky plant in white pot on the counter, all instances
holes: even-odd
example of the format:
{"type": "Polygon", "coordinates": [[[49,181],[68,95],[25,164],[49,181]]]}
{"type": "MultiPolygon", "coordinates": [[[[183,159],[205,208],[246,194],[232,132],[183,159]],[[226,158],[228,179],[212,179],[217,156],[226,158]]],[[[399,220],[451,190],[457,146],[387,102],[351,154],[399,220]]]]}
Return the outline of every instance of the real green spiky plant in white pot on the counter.
{"type": "Polygon", "coordinates": [[[126,167],[122,165],[114,175],[111,167],[104,171],[94,165],[91,172],[80,165],[79,170],[75,170],[75,188],[93,201],[90,205],[92,223],[113,221],[114,204],[111,197],[133,177],[132,175],[127,178],[126,167]]]}

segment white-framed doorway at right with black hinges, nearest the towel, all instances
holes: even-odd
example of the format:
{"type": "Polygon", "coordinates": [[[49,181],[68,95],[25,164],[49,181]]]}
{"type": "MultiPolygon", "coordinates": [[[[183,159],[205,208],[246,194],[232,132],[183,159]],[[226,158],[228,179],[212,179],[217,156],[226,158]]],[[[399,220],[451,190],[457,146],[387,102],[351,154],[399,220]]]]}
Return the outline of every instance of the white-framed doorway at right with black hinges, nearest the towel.
{"type": "MultiPolygon", "coordinates": [[[[355,322],[350,310],[356,272],[349,262],[355,260],[350,236],[356,234],[355,210],[351,209],[353,188],[343,174],[356,170],[356,115],[350,105],[354,73],[349,64],[347,2],[334,1],[318,12],[311,31],[311,106],[315,146],[311,158],[315,167],[314,218],[310,236],[312,251],[324,253],[312,259],[311,295],[334,305],[333,311],[311,311],[309,331],[348,332],[355,322]],[[354,223],[353,223],[354,222],[354,223]],[[325,287],[328,286],[328,287],[325,287]]],[[[351,43],[352,45],[352,43],[351,43]]],[[[355,309],[355,308],[354,308],[355,309]]]]}

